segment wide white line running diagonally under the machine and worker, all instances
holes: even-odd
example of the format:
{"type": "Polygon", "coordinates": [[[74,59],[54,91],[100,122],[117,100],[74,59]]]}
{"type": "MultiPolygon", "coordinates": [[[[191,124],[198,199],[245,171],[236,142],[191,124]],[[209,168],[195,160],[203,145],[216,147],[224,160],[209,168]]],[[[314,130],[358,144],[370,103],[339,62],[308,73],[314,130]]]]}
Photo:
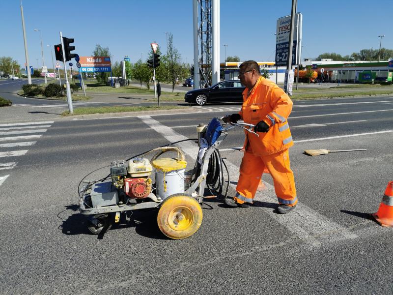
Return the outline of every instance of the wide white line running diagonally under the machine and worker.
{"type": "MultiPolygon", "coordinates": [[[[168,126],[161,124],[159,121],[151,118],[150,116],[138,116],[144,123],[150,126],[153,130],[165,137],[169,142],[175,142],[179,140],[188,139],[187,137],[173,131],[168,126]]],[[[187,153],[194,160],[197,158],[198,146],[191,141],[183,142],[178,144],[181,149],[187,153]]],[[[231,179],[239,178],[239,167],[226,161],[228,167],[229,177],[231,179]]],[[[255,201],[264,201],[269,203],[277,204],[277,197],[274,193],[274,188],[265,183],[267,190],[259,192],[255,196],[255,201]]],[[[230,186],[236,189],[234,184],[230,186]]],[[[325,243],[334,242],[338,240],[353,239],[358,236],[351,233],[344,227],[341,227],[337,223],[331,221],[327,217],[319,214],[311,208],[298,202],[296,210],[293,214],[279,215],[275,214],[271,208],[261,208],[266,214],[275,219],[278,223],[284,226],[289,232],[298,236],[300,239],[304,239],[306,242],[310,242],[311,246],[318,247],[321,245],[321,240],[325,243]],[[326,238],[322,236],[327,236],[326,238]]]]}

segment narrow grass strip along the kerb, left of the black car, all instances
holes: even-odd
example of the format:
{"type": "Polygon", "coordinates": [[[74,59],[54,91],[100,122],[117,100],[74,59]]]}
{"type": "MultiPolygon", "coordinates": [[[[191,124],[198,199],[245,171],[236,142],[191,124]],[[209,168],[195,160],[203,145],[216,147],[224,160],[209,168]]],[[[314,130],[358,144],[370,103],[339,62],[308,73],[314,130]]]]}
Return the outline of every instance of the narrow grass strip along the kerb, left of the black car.
{"type": "MultiPolygon", "coordinates": [[[[139,107],[91,107],[91,108],[76,108],[74,109],[75,115],[91,115],[91,114],[106,114],[106,113],[127,113],[127,112],[141,112],[141,111],[158,111],[158,110],[174,110],[174,109],[187,109],[189,107],[181,106],[139,106],[139,107]]],[[[61,116],[72,116],[69,111],[65,111],[61,116]]]]}

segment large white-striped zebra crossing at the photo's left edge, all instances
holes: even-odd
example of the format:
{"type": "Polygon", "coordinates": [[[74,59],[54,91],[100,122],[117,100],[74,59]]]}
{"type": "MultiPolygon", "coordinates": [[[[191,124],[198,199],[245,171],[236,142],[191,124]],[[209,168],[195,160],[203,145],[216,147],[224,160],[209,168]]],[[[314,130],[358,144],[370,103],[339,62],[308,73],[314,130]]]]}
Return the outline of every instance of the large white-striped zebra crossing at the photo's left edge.
{"type": "Polygon", "coordinates": [[[0,185],[9,176],[5,173],[18,164],[5,159],[25,155],[28,152],[26,147],[33,146],[36,143],[34,140],[40,138],[53,123],[54,121],[40,121],[0,124],[0,185]]]}

